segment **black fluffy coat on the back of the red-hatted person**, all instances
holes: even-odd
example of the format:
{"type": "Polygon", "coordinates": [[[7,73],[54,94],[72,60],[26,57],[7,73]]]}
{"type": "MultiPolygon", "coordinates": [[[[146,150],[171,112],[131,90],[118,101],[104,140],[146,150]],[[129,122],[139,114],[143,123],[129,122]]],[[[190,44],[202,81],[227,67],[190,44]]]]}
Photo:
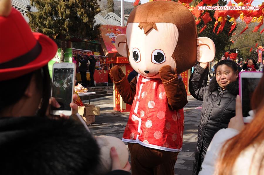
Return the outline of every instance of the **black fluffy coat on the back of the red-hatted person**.
{"type": "Polygon", "coordinates": [[[99,147],[83,125],[70,119],[20,117],[1,121],[0,169],[4,175],[89,175],[99,147]],[[15,128],[12,130],[12,128],[15,128]]]}

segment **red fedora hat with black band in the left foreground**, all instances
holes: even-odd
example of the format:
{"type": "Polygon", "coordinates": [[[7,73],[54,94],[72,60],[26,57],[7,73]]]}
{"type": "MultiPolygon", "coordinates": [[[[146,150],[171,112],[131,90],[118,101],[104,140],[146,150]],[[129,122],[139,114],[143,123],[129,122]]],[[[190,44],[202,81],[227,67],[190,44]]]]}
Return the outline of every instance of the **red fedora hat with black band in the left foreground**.
{"type": "Polygon", "coordinates": [[[0,81],[40,69],[57,52],[57,44],[41,33],[32,33],[14,8],[0,16],[0,38],[0,81]]]}

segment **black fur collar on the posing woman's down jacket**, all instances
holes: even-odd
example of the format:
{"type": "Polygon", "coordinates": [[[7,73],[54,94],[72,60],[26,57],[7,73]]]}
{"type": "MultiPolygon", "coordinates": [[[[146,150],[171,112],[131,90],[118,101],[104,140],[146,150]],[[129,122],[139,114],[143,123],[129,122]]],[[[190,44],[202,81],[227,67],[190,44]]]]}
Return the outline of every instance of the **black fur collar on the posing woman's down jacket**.
{"type": "MultiPolygon", "coordinates": [[[[209,83],[208,86],[208,90],[210,92],[216,91],[220,88],[220,86],[218,85],[217,81],[216,81],[216,77],[213,77],[209,83]]],[[[238,95],[238,79],[234,82],[231,82],[230,84],[228,84],[226,86],[226,89],[228,92],[230,92],[233,95],[238,95]]]]}

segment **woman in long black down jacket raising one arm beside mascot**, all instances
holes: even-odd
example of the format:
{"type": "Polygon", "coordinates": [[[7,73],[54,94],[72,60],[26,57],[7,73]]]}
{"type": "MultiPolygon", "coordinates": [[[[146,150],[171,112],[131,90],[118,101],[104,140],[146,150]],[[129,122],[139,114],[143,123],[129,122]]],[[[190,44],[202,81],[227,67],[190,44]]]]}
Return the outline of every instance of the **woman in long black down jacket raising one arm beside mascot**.
{"type": "Polygon", "coordinates": [[[208,63],[197,64],[190,77],[189,91],[194,98],[203,101],[198,128],[198,141],[195,151],[193,174],[201,169],[207,148],[214,134],[227,128],[229,120],[235,116],[236,95],[238,94],[238,71],[236,63],[222,60],[216,64],[216,77],[208,86],[202,85],[207,75],[208,63]]]}

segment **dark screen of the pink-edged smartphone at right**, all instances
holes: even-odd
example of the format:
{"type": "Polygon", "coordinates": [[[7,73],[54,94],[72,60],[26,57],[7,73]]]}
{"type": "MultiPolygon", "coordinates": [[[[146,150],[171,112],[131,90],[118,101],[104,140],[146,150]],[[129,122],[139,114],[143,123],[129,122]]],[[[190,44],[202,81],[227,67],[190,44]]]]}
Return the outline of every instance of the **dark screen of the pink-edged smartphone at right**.
{"type": "Polygon", "coordinates": [[[258,86],[260,78],[241,78],[242,80],[242,111],[243,117],[247,117],[249,114],[248,112],[251,110],[251,97],[258,86]]]}

